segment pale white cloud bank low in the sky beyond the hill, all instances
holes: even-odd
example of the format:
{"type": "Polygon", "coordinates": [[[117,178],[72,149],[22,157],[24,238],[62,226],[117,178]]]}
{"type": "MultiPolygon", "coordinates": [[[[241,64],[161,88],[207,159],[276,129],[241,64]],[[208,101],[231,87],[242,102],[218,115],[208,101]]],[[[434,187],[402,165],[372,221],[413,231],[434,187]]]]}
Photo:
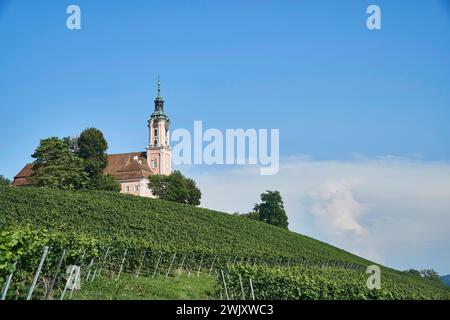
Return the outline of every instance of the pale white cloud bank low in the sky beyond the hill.
{"type": "Polygon", "coordinates": [[[291,157],[275,176],[260,176],[256,167],[187,174],[202,189],[204,207],[247,212],[260,193],[279,190],[293,231],[395,268],[450,272],[449,163],[291,157]]]}

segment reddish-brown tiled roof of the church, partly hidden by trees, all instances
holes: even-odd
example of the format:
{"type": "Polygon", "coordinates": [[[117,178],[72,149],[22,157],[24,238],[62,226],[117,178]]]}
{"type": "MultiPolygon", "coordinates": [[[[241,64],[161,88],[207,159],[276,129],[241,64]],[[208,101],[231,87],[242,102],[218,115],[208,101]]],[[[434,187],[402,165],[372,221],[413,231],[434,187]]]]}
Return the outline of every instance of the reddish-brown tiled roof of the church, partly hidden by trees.
{"type": "MultiPolygon", "coordinates": [[[[33,173],[33,164],[28,163],[14,177],[13,186],[31,185],[31,175],[33,173]]],[[[145,152],[130,152],[109,154],[108,164],[103,170],[104,174],[112,174],[117,180],[133,180],[147,178],[152,174],[147,163],[147,154],[145,152]]]]}

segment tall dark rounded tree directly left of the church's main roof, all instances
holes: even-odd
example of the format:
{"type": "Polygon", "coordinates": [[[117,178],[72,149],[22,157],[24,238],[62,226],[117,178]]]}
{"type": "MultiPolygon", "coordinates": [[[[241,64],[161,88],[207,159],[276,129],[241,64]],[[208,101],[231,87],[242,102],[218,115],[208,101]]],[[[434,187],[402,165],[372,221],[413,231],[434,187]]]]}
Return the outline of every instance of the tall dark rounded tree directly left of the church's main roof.
{"type": "MultiPolygon", "coordinates": [[[[91,180],[98,179],[108,164],[108,143],[103,133],[96,128],[87,128],[81,132],[76,142],[71,144],[77,155],[84,160],[85,171],[91,180]]],[[[93,182],[93,184],[95,184],[93,182]]]]}

